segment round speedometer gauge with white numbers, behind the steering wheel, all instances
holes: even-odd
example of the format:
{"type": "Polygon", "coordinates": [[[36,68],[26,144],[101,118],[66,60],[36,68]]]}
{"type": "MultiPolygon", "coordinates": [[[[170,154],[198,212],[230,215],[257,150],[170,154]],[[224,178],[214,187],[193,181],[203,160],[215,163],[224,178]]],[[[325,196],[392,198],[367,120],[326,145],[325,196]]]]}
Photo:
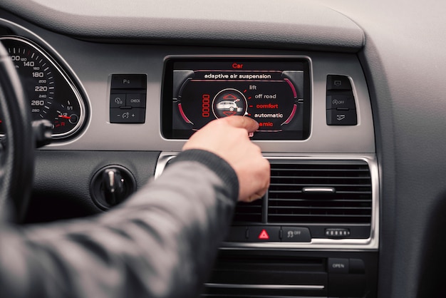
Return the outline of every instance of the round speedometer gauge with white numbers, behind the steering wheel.
{"type": "MultiPolygon", "coordinates": [[[[33,120],[53,124],[53,139],[73,136],[85,122],[85,103],[63,69],[41,48],[18,36],[1,37],[24,86],[33,120]]],[[[0,133],[4,129],[1,128],[0,133]]]]}

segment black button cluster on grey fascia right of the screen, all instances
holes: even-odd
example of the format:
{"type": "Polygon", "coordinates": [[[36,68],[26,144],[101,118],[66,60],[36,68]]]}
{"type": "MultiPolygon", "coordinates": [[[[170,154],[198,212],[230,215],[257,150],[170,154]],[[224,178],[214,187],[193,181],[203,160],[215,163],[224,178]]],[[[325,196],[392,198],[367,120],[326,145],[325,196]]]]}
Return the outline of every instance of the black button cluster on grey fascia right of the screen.
{"type": "Polygon", "coordinates": [[[327,76],[327,125],[357,125],[356,103],[348,76],[327,76]]]}

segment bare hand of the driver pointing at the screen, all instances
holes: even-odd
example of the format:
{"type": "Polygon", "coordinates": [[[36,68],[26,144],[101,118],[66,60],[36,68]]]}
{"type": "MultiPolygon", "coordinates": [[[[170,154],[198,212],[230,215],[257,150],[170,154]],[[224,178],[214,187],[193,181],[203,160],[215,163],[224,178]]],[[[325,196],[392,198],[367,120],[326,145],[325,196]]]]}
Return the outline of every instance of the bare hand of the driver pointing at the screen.
{"type": "Polygon", "coordinates": [[[270,177],[268,160],[248,136],[258,128],[248,117],[219,118],[192,135],[182,149],[207,150],[226,160],[239,179],[239,200],[251,202],[265,194],[270,177]]]}

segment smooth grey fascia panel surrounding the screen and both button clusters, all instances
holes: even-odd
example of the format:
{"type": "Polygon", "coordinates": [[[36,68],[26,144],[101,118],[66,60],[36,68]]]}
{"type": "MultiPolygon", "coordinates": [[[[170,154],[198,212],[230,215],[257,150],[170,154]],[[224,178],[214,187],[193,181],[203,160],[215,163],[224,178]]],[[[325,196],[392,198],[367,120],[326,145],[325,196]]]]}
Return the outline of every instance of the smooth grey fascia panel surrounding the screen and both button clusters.
{"type": "MultiPolygon", "coordinates": [[[[0,17],[11,19],[8,14],[0,17]]],[[[358,58],[353,53],[286,51],[251,48],[161,46],[147,44],[94,43],[54,34],[18,20],[33,33],[7,21],[4,26],[17,34],[46,45],[68,63],[85,88],[91,115],[85,130],[66,143],[54,143],[53,150],[181,150],[185,140],[166,140],[160,131],[162,73],[167,56],[289,56],[311,61],[311,134],[302,141],[256,141],[264,152],[281,153],[374,153],[375,140],[370,99],[358,58]],[[38,36],[36,36],[36,34],[38,36]],[[42,38],[39,41],[39,38],[42,38]],[[113,73],[147,73],[147,111],[144,124],[110,123],[110,81],[113,73]],[[358,105],[358,125],[326,125],[326,79],[329,74],[349,76],[358,105]],[[118,141],[117,141],[118,140],[118,141]],[[361,141],[358,141],[361,140],[361,141]]]]}

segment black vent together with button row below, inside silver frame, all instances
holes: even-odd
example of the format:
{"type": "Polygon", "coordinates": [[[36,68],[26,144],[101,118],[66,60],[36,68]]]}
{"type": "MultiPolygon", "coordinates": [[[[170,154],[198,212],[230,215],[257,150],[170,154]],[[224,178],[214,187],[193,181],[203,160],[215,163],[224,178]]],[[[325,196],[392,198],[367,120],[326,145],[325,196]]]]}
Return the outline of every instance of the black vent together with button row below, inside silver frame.
{"type": "Polygon", "coordinates": [[[258,237],[249,235],[265,228],[279,231],[282,242],[287,240],[284,232],[297,228],[309,231],[312,240],[373,237],[373,185],[365,160],[270,158],[269,162],[268,193],[261,200],[237,204],[229,242],[256,242],[258,237]]]}

